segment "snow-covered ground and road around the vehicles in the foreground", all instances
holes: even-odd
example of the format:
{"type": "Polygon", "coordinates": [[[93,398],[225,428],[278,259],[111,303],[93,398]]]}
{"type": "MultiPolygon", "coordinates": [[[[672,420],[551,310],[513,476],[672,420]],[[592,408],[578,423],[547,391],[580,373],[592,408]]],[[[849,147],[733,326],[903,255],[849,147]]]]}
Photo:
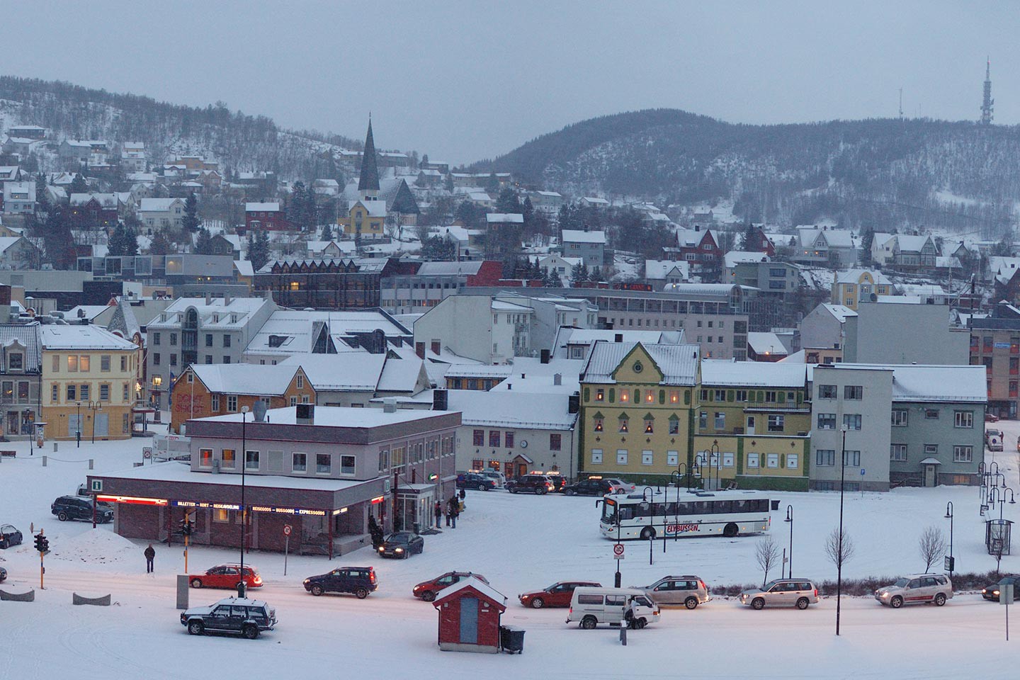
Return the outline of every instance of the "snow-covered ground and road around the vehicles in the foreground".
{"type": "MultiPolygon", "coordinates": [[[[1007,451],[997,454],[1001,470],[1018,486],[1015,442],[1020,423],[997,423],[1006,431],[1007,451]]],[[[83,678],[377,677],[399,673],[441,677],[618,678],[675,677],[875,677],[959,678],[1002,671],[1015,652],[1003,640],[1004,608],[975,594],[960,593],[941,609],[892,611],[868,598],[847,598],[843,635],[833,635],[831,598],[807,612],[752,612],[717,598],[695,612],[667,610],[657,627],[631,632],[622,647],[615,630],[582,631],[564,623],[562,610],[521,608],[515,595],[561,579],[596,579],[611,584],[615,562],[611,543],[598,533],[595,500],[559,495],[511,495],[469,491],[457,529],[426,536],[425,553],[407,561],[382,561],[368,550],[338,558],[252,553],[266,585],[257,593],[276,608],[277,629],[258,640],[189,636],[174,609],[173,575],[183,570],[180,546],[156,546],[156,573],[146,575],[144,543],[114,535],[109,526],[61,524],[49,513],[52,500],[73,491],[87,464],[97,471],[141,461],[144,441],[61,443],[42,467],[36,457],[0,463],[0,522],[12,522],[27,544],[0,552],[9,589],[38,586],[39,558],[28,538],[29,523],[44,526],[52,553],[47,557],[45,591],[33,604],[0,603],[4,635],[0,678],[45,677],[75,669],[83,678]],[[60,460],[54,460],[60,459],[60,460]],[[350,596],[312,597],[301,579],[329,566],[371,565],[379,590],[365,600],[350,596]],[[484,574],[508,595],[504,622],[527,632],[520,657],[442,652],[436,646],[437,615],[415,600],[411,586],[450,569],[484,574]],[[113,595],[110,608],[71,607],[70,593],[113,595]],[[41,650],[45,649],[45,653],[41,650]]],[[[27,444],[16,444],[27,453],[27,444]]],[[[795,511],[794,559],[798,575],[834,577],[824,556],[825,536],[835,526],[838,493],[781,493],[772,514],[772,534],[786,545],[785,508],[795,511]]],[[[935,525],[947,533],[946,504],[956,508],[954,548],[957,568],[986,571],[994,561],[983,550],[978,491],[971,487],[900,489],[889,493],[849,493],[846,525],[857,553],[849,577],[919,571],[918,534],[935,525]]],[[[998,508],[996,516],[998,517],[998,508]]],[[[1020,505],[1004,516],[1020,520],[1020,505]]],[[[670,541],[662,553],[630,542],[622,564],[624,585],[647,583],[666,574],[694,573],[710,584],[761,580],[753,536],[670,541]]],[[[1017,551],[1020,553],[1020,550],[1017,551]]],[[[192,571],[236,552],[193,547],[192,571]]],[[[1003,571],[1020,570],[1017,555],[1003,559],[1003,571]]],[[[776,574],[777,575],[777,574],[776,574]]],[[[208,604],[228,591],[192,590],[193,605],[208,604]]],[[[1020,634],[1020,632],[1018,632],[1020,634]]],[[[1016,644],[1013,642],[1011,644],[1016,644]]]]}

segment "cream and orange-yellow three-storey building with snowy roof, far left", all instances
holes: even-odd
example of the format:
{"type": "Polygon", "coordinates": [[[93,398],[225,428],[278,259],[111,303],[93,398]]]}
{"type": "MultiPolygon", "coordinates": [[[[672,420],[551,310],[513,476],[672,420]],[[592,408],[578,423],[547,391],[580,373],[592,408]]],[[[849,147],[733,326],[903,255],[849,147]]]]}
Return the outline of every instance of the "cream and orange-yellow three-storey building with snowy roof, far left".
{"type": "Polygon", "coordinates": [[[130,437],[138,346],[94,325],[44,325],[42,345],[46,438],[130,437]]]}

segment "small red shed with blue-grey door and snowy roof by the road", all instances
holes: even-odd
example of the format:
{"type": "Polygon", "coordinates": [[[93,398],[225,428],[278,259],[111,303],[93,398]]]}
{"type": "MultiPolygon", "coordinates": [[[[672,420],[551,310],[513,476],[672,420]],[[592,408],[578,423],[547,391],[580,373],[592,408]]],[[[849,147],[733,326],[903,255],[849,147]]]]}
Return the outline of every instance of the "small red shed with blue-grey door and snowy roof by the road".
{"type": "Polygon", "coordinates": [[[440,590],[432,603],[440,613],[440,649],[499,651],[500,616],[506,601],[506,595],[476,578],[440,590]]]}

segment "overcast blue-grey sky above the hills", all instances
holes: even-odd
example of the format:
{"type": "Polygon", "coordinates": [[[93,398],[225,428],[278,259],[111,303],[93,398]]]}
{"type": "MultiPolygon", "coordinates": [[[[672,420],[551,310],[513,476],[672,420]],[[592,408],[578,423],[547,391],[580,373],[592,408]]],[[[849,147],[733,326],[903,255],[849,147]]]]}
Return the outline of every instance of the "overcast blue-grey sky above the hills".
{"type": "Polygon", "coordinates": [[[596,115],[1020,121],[1020,2],[19,2],[6,74],[469,162],[596,115]],[[50,5],[50,6],[47,6],[50,5]],[[723,6],[720,6],[723,5],[723,6]]]}

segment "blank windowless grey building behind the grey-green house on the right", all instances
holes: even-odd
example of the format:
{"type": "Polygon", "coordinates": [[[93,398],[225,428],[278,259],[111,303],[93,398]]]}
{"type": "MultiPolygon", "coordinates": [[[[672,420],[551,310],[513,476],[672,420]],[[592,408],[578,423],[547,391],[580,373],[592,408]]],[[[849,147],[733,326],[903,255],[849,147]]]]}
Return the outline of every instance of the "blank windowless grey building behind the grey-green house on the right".
{"type": "Polygon", "coordinates": [[[970,333],[950,327],[948,305],[861,301],[845,330],[848,363],[963,365],[970,356],[970,333]]]}

